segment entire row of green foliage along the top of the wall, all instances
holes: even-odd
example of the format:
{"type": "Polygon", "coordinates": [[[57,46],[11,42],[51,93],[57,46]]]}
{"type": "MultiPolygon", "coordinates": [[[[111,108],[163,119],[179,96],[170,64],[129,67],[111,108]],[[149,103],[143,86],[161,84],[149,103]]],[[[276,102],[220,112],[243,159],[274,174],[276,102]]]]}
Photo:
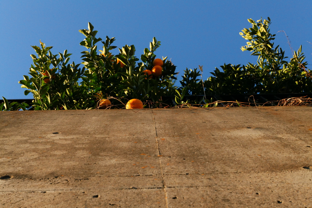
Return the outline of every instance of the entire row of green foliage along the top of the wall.
{"type": "MultiPolygon", "coordinates": [[[[151,79],[144,70],[152,70],[156,58],[155,51],[161,45],[153,38],[149,49],[144,49],[140,59],[135,56],[134,45],[125,45],[114,55],[112,50],[117,48],[112,44],[115,37],[106,36],[105,41],[96,37],[97,31],[89,22],[88,29],[79,30],[85,36],[80,42],[86,47],[80,64],[68,64],[71,54],[51,53],[52,47],[46,47],[40,41],[40,47],[32,46],[36,55],[31,55],[31,78],[24,75],[19,83],[26,88],[25,95],[32,93],[32,107],[35,110],[57,109],[95,109],[99,99],[113,97],[113,105],[122,104],[122,99],[140,99],[152,101],[151,107],[158,107],[165,103],[173,106],[172,102],[162,100],[162,97],[172,96],[176,104],[203,104],[206,94],[258,94],[258,93],[304,93],[312,91],[311,70],[307,69],[302,48],[292,51],[293,57],[287,61],[285,51],[274,46],[275,34],[270,33],[271,20],[248,19],[251,28],[244,28],[240,35],[248,40],[242,51],[251,51],[252,56],[258,56],[256,64],[246,65],[224,64],[222,70],[216,68],[203,81],[202,66],[199,70],[184,70],[180,86],[176,86],[176,66],[163,57],[162,74],[152,76],[151,79]],[[101,50],[98,44],[102,43],[101,50]],[[141,61],[140,61],[141,60],[141,61]],[[140,62],[139,62],[140,61],[140,62]],[[204,95],[203,95],[204,94],[204,95]],[[168,103],[166,103],[168,102],[168,103]]],[[[3,98],[0,104],[2,110],[26,110],[30,106],[26,103],[9,103],[3,98]]],[[[170,100],[170,99],[169,99],[170,100]]],[[[205,100],[206,103],[217,102],[205,100]]],[[[151,103],[151,102],[149,102],[151,103]]],[[[150,106],[150,104],[149,104],[150,106]]],[[[209,104],[205,105],[211,106],[209,104]]]]}

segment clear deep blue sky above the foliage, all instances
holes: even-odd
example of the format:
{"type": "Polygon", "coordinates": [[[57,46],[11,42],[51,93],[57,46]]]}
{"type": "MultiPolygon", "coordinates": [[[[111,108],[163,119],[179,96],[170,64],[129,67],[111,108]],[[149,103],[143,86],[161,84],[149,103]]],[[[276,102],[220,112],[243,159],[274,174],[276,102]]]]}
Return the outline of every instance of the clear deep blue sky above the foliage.
{"type": "MultiPolygon", "coordinates": [[[[71,61],[82,62],[80,46],[84,36],[78,32],[87,29],[91,22],[97,37],[115,37],[115,46],[134,45],[140,57],[144,48],[155,36],[161,41],[157,57],[168,56],[177,71],[203,65],[203,78],[226,64],[256,62],[256,56],[241,51],[246,45],[239,32],[249,28],[248,18],[271,18],[271,33],[277,34],[275,46],[280,45],[285,54],[291,46],[298,50],[302,45],[306,61],[312,60],[312,2],[307,0],[219,0],[219,1],[80,1],[80,0],[10,0],[0,1],[0,99],[22,99],[24,88],[18,84],[28,75],[32,64],[31,46],[54,46],[53,54],[68,50],[71,61]]],[[[102,47],[102,44],[99,43],[102,47]]],[[[98,47],[99,49],[99,47],[98,47]]],[[[118,52],[115,51],[115,54],[118,52]]],[[[179,78],[178,77],[178,78],[179,78]]],[[[32,98],[29,94],[27,98],[32,98]]]]}

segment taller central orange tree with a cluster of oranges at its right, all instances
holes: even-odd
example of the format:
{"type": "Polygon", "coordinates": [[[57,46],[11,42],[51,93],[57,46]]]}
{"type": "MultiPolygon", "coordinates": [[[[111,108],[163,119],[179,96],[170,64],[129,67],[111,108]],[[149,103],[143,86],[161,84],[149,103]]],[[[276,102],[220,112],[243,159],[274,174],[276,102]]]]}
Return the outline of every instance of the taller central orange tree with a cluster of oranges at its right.
{"type": "Polygon", "coordinates": [[[156,57],[154,52],[160,46],[160,41],[153,38],[150,49],[145,48],[141,55],[142,62],[135,56],[134,45],[125,45],[119,48],[119,54],[113,55],[110,51],[116,46],[111,44],[115,38],[106,36],[106,40],[96,38],[97,31],[89,22],[88,29],[80,30],[85,39],[80,45],[85,46],[88,51],[82,52],[82,64],[85,65],[85,73],[81,85],[88,90],[89,96],[103,97],[125,97],[140,99],[142,101],[160,101],[161,96],[173,95],[175,93],[174,80],[176,66],[167,57],[163,58],[162,75],[147,79],[144,70],[152,70],[153,61],[156,57]],[[97,45],[103,43],[102,50],[97,51],[97,45]]]}

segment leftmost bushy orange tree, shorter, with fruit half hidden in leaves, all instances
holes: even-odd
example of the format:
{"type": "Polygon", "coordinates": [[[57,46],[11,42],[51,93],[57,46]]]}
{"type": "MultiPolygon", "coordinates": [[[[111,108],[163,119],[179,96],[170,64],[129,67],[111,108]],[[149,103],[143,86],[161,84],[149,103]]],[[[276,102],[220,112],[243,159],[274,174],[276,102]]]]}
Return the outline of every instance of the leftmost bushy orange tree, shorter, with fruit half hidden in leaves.
{"type": "MultiPolygon", "coordinates": [[[[67,50],[63,54],[53,55],[51,48],[46,47],[40,41],[41,48],[32,46],[37,55],[31,55],[33,65],[30,68],[32,77],[24,75],[24,80],[20,80],[25,95],[32,93],[33,107],[35,110],[57,110],[57,109],[86,109],[88,102],[92,100],[88,97],[83,86],[78,85],[78,80],[84,74],[84,68],[67,64],[69,56],[67,50]],[[59,56],[57,58],[57,56],[59,56]]],[[[94,101],[93,101],[94,103],[94,101]]]]}

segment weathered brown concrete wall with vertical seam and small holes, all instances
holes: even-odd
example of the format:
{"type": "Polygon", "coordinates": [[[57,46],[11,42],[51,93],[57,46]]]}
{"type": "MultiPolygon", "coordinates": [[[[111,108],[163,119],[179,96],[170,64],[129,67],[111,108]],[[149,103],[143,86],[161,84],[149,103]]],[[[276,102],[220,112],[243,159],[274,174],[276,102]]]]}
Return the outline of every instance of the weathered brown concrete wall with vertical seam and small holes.
{"type": "Polygon", "coordinates": [[[0,207],[312,207],[312,108],[0,112],[0,207]]]}

